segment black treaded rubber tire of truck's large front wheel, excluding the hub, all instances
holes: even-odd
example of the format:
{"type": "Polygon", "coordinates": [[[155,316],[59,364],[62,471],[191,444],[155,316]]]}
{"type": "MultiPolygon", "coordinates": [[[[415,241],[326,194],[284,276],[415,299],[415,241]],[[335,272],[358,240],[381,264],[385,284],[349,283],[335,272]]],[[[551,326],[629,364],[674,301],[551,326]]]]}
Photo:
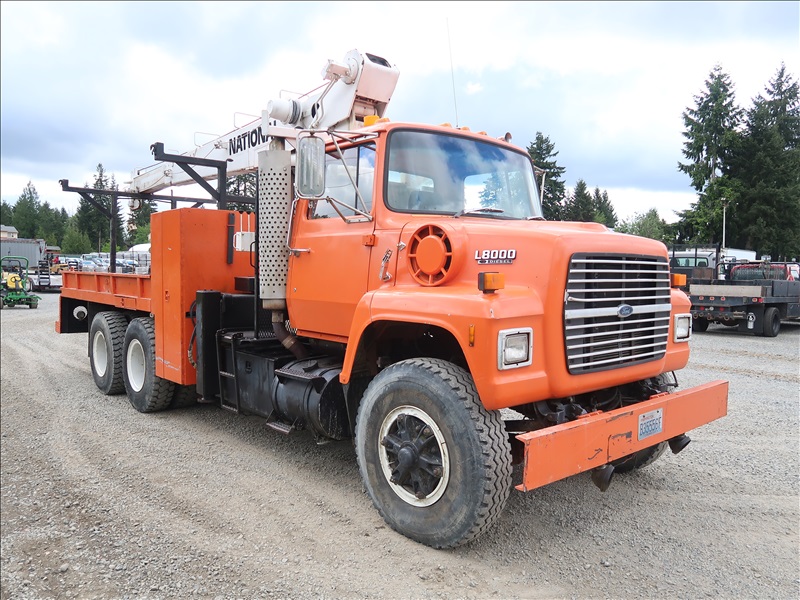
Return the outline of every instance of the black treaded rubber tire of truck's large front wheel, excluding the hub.
{"type": "MultiPolygon", "coordinates": [[[[398,423],[397,416],[390,422],[398,423]]],[[[434,548],[453,548],[475,539],[502,513],[511,489],[508,434],[500,413],[483,407],[472,376],[464,369],[432,358],[387,367],[364,392],[355,438],[364,486],[375,508],[398,533],[434,548]],[[382,455],[388,455],[380,443],[381,428],[400,407],[413,407],[432,420],[450,457],[442,462],[449,473],[446,486],[433,490],[431,496],[441,495],[428,506],[401,498],[394,489],[399,486],[389,482],[382,468],[382,455]]],[[[421,500],[426,501],[431,500],[421,500]]]]}

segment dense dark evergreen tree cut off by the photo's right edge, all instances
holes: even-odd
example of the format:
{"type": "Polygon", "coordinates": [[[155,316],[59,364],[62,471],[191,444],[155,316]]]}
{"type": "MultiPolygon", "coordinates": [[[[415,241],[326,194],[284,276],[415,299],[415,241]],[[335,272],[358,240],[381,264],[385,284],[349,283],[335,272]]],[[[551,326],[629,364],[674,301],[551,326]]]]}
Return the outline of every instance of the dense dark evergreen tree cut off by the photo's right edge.
{"type": "Polygon", "coordinates": [[[774,259],[800,256],[800,94],[781,65],[753,99],[731,177],[728,240],[774,259]]]}

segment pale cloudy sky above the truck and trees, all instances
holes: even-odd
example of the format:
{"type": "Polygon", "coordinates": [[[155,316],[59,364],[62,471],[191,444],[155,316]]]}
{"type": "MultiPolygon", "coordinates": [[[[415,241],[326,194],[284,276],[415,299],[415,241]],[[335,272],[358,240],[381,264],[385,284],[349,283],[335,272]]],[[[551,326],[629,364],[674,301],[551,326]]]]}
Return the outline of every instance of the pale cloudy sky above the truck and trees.
{"type": "MultiPolygon", "coordinates": [[[[800,2],[0,2],[0,196],[31,182],[74,214],[97,165],[121,189],[153,163],[322,83],[358,49],[395,65],[385,116],[527,148],[547,136],[568,188],[620,220],[667,222],[696,195],[682,114],[715,65],[749,108],[800,76],[800,2]]],[[[177,192],[176,192],[177,193],[177,192]]],[[[183,192],[181,192],[183,193],[183,192]]]]}

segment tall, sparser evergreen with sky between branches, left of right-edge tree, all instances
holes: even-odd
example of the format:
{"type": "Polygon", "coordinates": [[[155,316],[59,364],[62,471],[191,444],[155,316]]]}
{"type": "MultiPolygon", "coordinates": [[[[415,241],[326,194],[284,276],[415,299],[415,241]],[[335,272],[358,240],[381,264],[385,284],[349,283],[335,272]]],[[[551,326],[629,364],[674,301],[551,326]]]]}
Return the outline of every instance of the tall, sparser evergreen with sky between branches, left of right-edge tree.
{"type": "Polygon", "coordinates": [[[705,84],[705,92],[694,97],[695,107],[683,113],[683,155],[689,162],[678,163],[678,170],[689,176],[698,192],[697,202],[684,215],[691,221],[693,236],[711,243],[721,238],[723,204],[734,191],[728,172],[742,112],[722,67],[716,65],[705,84]]]}

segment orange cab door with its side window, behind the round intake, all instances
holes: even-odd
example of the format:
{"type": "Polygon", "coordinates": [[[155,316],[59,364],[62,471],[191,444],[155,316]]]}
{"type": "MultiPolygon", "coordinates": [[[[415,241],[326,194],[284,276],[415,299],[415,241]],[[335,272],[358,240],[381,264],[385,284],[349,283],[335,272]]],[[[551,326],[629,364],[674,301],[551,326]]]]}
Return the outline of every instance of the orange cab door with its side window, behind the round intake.
{"type": "Polygon", "coordinates": [[[325,196],[298,204],[286,299],[301,335],[345,341],[350,332],[367,292],[374,174],[375,145],[353,146],[341,158],[328,156],[325,196]]]}

